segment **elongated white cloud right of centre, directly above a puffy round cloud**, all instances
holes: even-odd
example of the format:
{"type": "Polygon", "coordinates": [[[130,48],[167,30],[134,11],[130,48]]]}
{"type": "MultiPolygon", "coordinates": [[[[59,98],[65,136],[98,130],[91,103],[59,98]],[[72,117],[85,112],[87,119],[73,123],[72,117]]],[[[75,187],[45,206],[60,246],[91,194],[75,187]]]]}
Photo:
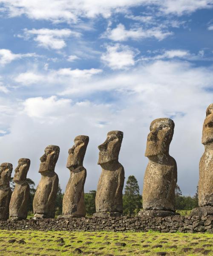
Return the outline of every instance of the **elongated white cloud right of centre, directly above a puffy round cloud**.
{"type": "Polygon", "coordinates": [[[141,27],[127,30],[123,24],[118,24],[115,29],[108,28],[102,36],[113,41],[127,41],[128,39],[139,40],[144,38],[156,38],[163,40],[172,32],[163,31],[160,27],[153,27],[151,29],[142,29],[141,27]]]}

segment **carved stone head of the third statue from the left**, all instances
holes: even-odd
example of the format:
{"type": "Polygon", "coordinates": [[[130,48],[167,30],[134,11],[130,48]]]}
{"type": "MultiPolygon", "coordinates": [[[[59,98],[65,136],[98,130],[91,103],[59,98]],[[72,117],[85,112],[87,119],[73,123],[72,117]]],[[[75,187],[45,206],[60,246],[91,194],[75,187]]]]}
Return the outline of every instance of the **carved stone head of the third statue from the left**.
{"type": "Polygon", "coordinates": [[[45,153],[40,158],[41,163],[38,172],[54,172],[60,148],[55,145],[49,145],[45,148],[44,152],[45,153]]]}

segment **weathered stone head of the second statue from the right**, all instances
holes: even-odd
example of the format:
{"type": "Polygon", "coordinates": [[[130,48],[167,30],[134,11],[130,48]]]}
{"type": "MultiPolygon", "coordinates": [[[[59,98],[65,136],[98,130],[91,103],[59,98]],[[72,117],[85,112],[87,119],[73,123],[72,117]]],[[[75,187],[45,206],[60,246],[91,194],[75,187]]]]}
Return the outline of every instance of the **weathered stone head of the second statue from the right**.
{"type": "Polygon", "coordinates": [[[146,157],[169,153],[174,127],[175,124],[170,118],[158,118],[151,122],[150,133],[147,137],[146,157]]]}

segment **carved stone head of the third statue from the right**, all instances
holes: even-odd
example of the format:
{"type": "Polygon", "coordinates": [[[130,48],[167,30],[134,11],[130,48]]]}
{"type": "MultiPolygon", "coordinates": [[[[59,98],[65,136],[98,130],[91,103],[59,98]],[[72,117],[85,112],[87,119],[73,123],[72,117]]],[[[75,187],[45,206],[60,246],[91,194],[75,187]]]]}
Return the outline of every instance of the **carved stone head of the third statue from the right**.
{"type": "Polygon", "coordinates": [[[101,165],[102,163],[104,164],[118,161],[122,140],[122,131],[109,131],[107,134],[107,139],[103,144],[98,146],[98,149],[100,150],[98,164],[101,165]]]}

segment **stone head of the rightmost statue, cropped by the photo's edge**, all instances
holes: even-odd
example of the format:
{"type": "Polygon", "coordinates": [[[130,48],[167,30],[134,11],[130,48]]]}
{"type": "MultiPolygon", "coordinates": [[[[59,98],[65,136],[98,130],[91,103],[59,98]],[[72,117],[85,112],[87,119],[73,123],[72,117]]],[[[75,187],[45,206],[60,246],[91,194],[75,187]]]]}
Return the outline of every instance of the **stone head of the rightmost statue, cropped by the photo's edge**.
{"type": "Polygon", "coordinates": [[[206,118],[203,124],[202,144],[213,143],[213,104],[206,110],[206,118]]]}

